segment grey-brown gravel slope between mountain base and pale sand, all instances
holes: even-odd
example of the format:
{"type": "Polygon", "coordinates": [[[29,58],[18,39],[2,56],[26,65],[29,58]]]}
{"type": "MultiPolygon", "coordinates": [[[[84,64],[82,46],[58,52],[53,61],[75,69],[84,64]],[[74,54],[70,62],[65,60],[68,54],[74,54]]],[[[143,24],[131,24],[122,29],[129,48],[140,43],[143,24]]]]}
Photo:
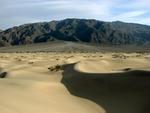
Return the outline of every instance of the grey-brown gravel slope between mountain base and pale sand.
{"type": "Polygon", "coordinates": [[[33,53],[33,52],[125,52],[125,53],[145,53],[150,52],[150,46],[137,45],[102,45],[93,43],[75,43],[69,41],[52,41],[47,43],[37,43],[19,46],[0,47],[1,53],[33,53]]]}

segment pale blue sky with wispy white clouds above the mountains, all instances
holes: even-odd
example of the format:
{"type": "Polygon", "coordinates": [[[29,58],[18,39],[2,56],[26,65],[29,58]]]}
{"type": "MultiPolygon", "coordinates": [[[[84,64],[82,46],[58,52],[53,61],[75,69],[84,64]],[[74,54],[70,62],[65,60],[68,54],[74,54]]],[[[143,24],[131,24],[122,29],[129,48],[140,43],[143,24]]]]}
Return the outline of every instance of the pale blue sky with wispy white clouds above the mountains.
{"type": "Polygon", "coordinates": [[[150,0],[0,0],[0,29],[64,18],[150,25],[150,0]]]}

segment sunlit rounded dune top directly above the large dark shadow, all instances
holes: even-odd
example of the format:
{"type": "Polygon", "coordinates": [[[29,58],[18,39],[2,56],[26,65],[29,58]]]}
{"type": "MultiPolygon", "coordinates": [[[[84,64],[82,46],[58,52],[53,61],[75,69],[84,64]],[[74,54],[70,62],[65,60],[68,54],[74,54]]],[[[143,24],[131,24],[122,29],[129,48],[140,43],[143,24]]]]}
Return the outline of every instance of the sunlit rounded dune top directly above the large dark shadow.
{"type": "Polygon", "coordinates": [[[124,73],[131,70],[150,71],[147,60],[139,59],[105,59],[83,60],[75,65],[77,71],[85,73],[124,73]]]}

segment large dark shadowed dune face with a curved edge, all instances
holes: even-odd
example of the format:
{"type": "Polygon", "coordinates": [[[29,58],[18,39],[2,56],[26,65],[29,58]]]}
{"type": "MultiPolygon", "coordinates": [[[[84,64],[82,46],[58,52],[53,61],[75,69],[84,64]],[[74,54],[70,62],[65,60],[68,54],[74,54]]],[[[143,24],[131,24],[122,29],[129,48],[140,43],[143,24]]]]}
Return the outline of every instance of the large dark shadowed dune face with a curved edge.
{"type": "Polygon", "coordinates": [[[89,74],[75,70],[74,66],[62,66],[61,82],[72,95],[95,102],[106,113],[150,113],[150,72],[89,74]]]}

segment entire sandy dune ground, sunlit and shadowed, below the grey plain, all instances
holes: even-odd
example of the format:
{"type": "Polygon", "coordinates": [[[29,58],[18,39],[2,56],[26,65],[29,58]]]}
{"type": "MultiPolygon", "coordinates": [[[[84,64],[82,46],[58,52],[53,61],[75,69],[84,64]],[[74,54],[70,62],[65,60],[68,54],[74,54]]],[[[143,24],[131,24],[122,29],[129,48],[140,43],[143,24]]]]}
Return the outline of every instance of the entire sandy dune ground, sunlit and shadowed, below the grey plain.
{"type": "Polygon", "coordinates": [[[0,53],[0,113],[150,113],[149,53],[0,53]]]}

